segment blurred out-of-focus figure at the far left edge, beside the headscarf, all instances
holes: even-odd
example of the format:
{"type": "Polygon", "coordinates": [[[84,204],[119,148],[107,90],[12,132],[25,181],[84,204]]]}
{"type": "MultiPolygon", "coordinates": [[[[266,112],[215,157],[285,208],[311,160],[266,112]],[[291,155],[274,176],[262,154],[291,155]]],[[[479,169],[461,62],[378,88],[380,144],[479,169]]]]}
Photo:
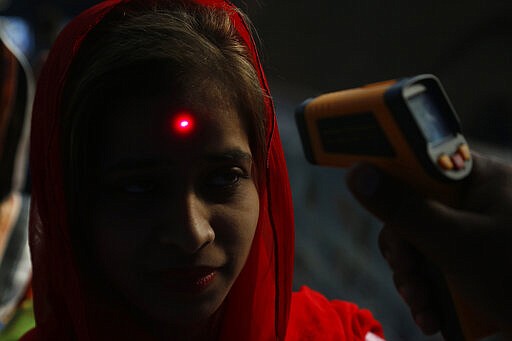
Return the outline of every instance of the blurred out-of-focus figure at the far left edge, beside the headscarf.
{"type": "Polygon", "coordinates": [[[33,326],[28,249],[28,135],[34,80],[0,20],[0,340],[33,326]]]}

